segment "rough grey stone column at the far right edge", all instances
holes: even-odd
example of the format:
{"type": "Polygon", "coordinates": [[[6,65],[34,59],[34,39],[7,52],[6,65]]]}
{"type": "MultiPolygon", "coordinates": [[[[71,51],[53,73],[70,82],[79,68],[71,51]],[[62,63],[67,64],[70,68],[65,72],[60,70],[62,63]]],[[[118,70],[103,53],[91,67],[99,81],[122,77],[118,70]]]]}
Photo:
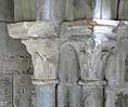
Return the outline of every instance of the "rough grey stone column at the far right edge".
{"type": "Polygon", "coordinates": [[[127,81],[127,56],[128,56],[128,25],[120,23],[114,30],[114,40],[107,45],[110,56],[107,57],[105,78],[105,107],[128,106],[128,81],[127,81]]]}

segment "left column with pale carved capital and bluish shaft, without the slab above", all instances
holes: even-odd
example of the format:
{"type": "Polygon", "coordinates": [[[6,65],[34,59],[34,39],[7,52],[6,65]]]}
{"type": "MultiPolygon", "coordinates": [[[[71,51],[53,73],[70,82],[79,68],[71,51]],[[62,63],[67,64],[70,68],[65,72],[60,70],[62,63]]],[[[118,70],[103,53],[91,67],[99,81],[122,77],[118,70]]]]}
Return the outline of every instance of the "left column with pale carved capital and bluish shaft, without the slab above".
{"type": "Polygon", "coordinates": [[[56,107],[55,86],[57,69],[57,48],[49,39],[23,41],[33,56],[33,84],[36,93],[36,107],[56,107]]]}

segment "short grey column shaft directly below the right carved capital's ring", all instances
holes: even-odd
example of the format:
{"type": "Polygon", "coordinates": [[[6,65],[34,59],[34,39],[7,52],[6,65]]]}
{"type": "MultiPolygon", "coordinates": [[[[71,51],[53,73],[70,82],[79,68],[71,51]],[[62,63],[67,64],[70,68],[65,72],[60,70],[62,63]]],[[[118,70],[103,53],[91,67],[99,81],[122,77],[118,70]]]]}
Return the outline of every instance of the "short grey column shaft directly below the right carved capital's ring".
{"type": "Polygon", "coordinates": [[[84,107],[104,107],[103,89],[82,86],[84,107]]]}

